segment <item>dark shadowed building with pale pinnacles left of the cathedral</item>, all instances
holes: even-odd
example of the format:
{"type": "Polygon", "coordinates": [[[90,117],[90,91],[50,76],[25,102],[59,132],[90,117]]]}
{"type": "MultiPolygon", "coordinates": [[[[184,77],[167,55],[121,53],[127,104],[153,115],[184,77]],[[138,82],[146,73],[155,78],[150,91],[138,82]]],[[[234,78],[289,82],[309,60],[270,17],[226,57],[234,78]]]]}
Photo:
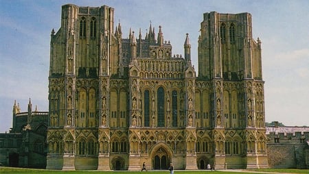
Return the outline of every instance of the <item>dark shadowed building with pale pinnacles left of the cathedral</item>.
{"type": "Polygon", "coordinates": [[[10,132],[0,133],[0,166],[27,168],[46,167],[46,136],[48,112],[21,112],[16,101],[13,106],[13,125],[10,132]]]}

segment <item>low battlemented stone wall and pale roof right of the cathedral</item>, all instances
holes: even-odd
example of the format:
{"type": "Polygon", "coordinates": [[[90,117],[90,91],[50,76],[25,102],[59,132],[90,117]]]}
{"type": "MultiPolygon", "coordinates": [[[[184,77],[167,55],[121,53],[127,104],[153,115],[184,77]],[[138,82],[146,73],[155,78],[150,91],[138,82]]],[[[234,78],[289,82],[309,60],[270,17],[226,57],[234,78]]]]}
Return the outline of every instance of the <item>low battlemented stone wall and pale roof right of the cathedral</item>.
{"type": "Polygon", "coordinates": [[[270,168],[309,169],[309,127],[266,127],[270,168]]]}

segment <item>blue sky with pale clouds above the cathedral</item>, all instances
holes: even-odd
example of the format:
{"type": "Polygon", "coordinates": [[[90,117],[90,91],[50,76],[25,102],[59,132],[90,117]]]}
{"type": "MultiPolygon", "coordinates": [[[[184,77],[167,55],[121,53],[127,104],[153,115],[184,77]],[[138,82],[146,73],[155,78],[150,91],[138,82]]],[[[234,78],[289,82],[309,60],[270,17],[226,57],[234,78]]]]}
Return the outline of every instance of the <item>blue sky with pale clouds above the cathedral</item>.
{"type": "Polygon", "coordinates": [[[172,54],[183,54],[185,34],[197,64],[197,40],[203,13],[249,12],[253,38],[262,41],[266,122],[309,125],[309,1],[5,1],[0,0],[0,132],[12,127],[14,100],[27,111],[29,98],[48,110],[50,32],[60,28],[61,5],[108,5],[115,9],[123,37],[130,27],[143,37],[150,21],[162,26],[172,54]]]}

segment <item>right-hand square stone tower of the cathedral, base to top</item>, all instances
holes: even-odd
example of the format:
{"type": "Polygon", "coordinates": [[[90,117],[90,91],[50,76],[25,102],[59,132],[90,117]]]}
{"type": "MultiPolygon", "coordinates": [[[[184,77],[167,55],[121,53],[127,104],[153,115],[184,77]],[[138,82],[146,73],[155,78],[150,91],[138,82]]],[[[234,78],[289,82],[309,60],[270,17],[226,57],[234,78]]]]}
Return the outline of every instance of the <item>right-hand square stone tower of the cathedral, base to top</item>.
{"type": "Polygon", "coordinates": [[[208,127],[211,139],[201,136],[198,151],[214,153],[219,169],[267,166],[261,42],[252,38],[251,14],[205,13],[198,67],[197,129],[208,127]]]}

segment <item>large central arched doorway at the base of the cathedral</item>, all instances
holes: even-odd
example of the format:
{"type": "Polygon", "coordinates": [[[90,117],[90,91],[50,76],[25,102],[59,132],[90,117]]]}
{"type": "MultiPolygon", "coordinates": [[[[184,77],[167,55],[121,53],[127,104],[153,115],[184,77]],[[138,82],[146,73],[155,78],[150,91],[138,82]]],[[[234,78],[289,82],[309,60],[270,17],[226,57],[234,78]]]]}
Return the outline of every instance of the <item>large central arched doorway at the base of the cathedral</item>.
{"type": "Polygon", "coordinates": [[[155,170],[166,170],[170,166],[170,158],[168,153],[160,147],[152,158],[152,169],[155,170]]]}

